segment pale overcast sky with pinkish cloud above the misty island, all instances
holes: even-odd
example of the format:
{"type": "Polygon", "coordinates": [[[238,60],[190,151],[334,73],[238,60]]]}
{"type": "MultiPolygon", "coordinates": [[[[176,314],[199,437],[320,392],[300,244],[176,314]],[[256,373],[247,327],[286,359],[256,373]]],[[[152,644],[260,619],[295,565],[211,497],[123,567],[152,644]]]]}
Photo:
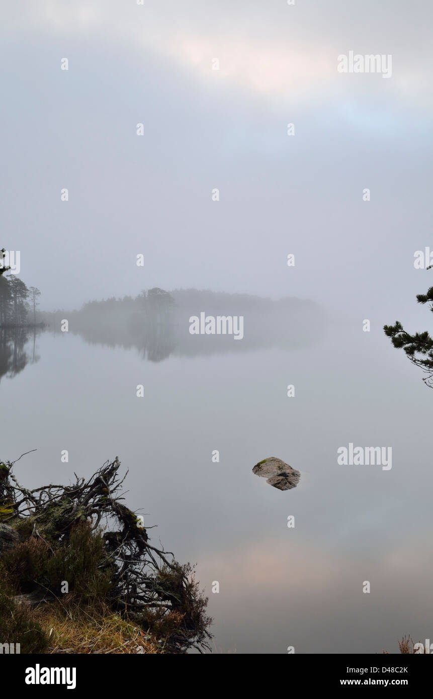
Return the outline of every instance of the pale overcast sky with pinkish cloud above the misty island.
{"type": "Polygon", "coordinates": [[[159,286],[313,298],[378,323],[417,312],[433,284],[413,268],[433,250],[424,0],[24,0],[2,14],[0,242],[41,308],[159,286]],[[392,55],[391,77],[339,73],[350,50],[392,55]]]}

